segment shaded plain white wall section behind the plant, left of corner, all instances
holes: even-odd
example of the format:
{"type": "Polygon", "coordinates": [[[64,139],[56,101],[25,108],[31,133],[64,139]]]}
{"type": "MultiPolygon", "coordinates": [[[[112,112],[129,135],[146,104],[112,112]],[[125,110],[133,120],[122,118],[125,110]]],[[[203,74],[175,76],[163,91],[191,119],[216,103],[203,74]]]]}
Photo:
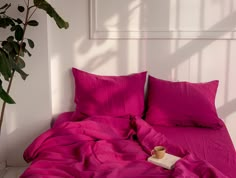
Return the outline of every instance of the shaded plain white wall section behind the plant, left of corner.
{"type": "MultiPolygon", "coordinates": [[[[18,5],[14,2],[12,4],[15,8],[18,5]]],[[[9,13],[19,15],[14,10],[9,13]]],[[[18,74],[15,76],[11,96],[17,104],[7,105],[1,131],[0,161],[7,159],[9,166],[26,164],[22,158],[25,148],[36,136],[49,128],[52,118],[47,16],[37,11],[34,18],[40,25],[27,30],[26,37],[35,42],[35,48],[31,50],[32,57],[25,59],[25,72],[29,76],[26,81],[18,74]]]]}

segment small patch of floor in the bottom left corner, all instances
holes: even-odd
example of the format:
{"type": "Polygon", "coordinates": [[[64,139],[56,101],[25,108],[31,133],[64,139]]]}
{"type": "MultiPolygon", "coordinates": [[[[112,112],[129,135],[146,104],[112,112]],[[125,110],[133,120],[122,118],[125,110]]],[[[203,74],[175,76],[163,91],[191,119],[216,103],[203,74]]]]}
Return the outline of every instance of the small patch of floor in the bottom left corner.
{"type": "Polygon", "coordinates": [[[0,178],[19,178],[26,167],[8,167],[0,171],[0,178]]]}

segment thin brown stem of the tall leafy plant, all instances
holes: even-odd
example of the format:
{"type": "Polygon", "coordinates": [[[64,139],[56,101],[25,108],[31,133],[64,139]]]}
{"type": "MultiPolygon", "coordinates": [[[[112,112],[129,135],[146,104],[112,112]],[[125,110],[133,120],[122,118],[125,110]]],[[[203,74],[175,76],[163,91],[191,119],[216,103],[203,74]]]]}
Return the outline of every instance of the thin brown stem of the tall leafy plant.
{"type": "MultiPolygon", "coordinates": [[[[24,22],[24,27],[23,27],[23,36],[22,36],[22,40],[20,42],[18,42],[19,45],[20,45],[20,48],[19,48],[19,51],[18,51],[16,63],[19,61],[19,58],[20,58],[20,53],[21,53],[21,50],[22,50],[22,45],[23,45],[23,42],[24,42],[24,36],[25,36],[25,32],[26,32],[26,27],[27,27],[28,21],[30,19],[29,18],[29,11],[30,11],[29,0],[28,0],[28,4],[26,4],[26,7],[27,7],[27,11],[26,11],[25,22],[24,22]]],[[[12,81],[13,81],[13,78],[14,78],[14,74],[15,74],[15,70],[12,71],[12,75],[11,75],[11,78],[10,78],[10,81],[9,81],[8,87],[7,87],[7,94],[9,94],[9,92],[10,92],[10,89],[11,89],[11,86],[12,86],[12,81]]],[[[1,132],[1,128],[2,128],[5,109],[6,109],[6,102],[4,101],[3,104],[2,104],[1,116],[0,116],[0,132],[1,132]]]]}

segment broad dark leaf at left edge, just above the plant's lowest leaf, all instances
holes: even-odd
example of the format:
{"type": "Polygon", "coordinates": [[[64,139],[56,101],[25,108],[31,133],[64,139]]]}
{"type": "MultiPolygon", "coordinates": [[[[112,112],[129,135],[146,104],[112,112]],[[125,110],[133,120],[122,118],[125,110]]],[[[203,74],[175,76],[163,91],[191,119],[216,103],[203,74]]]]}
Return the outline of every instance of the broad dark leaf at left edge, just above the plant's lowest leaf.
{"type": "Polygon", "coordinates": [[[7,54],[1,49],[0,50],[0,73],[4,76],[5,80],[9,80],[11,77],[11,64],[8,60],[7,54]]]}

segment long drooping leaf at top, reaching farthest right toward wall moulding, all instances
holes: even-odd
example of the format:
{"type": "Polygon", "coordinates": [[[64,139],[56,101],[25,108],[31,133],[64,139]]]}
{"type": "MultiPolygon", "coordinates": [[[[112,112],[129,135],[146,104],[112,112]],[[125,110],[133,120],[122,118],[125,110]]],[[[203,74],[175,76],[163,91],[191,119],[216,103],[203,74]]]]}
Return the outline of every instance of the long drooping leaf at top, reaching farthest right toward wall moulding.
{"type": "Polygon", "coordinates": [[[55,20],[59,28],[67,29],[69,27],[69,23],[65,22],[47,1],[34,0],[34,5],[38,7],[39,9],[43,9],[44,11],[46,11],[47,14],[55,20]]]}

